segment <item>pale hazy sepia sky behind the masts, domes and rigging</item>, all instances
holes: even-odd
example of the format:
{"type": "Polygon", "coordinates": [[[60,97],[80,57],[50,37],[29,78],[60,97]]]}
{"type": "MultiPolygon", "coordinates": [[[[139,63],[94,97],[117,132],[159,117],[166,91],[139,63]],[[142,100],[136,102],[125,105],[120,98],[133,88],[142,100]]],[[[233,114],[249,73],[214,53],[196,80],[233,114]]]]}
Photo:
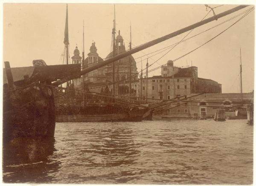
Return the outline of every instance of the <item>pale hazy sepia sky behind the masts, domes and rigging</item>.
{"type": "MultiPolygon", "coordinates": [[[[218,5],[209,5],[212,7],[218,5]]],[[[221,13],[235,5],[215,8],[221,13]]],[[[250,6],[253,7],[253,6],[250,6]]],[[[244,8],[229,16],[193,30],[188,37],[206,30],[233,17],[244,8]]],[[[209,11],[209,10],[208,10],[209,11]]],[[[116,4],[116,33],[121,31],[125,46],[130,40],[130,22],[133,47],[152,39],[177,31],[200,21],[207,13],[202,5],[156,5],[156,4],[116,4]]],[[[98,54],[105,58],[111,49],[113,27],[113,4],[68,4],[70,57],[76,44],[82,52],[82,31],[84,20],[84,51],[89,53],[92,41],[96,42],[98,54]]],[[[210,12],[207,17],[213,14],[210,12]]],[[[43,59],[47,65],[62,64],[64,51],[64,27],[66,4],[10,4],[3,6],[3,60],[11,67],[32,66],[33,59],[43,59]]],[[[176,59],[197,48],[223,31],[239,17],[224,23],[204,34],[180,43],[166,56],[157,61],[150,69],[164,65],[169,59],[176,59]]],[[[133,54],[134,58],[157,51],[180,41],[187,33],[157,44],[142,52],[133,54]]],[[[207,78],[222,84],[223,93],[239,92],[240,47],[243,65],[243,92],[250,92],[254,85],[254,11],[233,27],[191,54],[175,61],[175,66],[198,67],[198,77],[207,78]]],[[[167,50],[168,51],[168,50],[167,50]]],[[[149,64],[159,59],[167,51],[152,56],[149,64]]],[[[148,56],[151,56],[149,54],[148,56]]],[[[142,59],[147,58],[147,56],[142,59]]],[[[136,59],[138,70],[140,58],[136,59]]],[[[145,68],[146,60],[142,62],[145,68]]],[[[149,70],[150,70],[149,69],[149,70]]],[[[160,75],[160,69],[149,74],[160,75]]]]}

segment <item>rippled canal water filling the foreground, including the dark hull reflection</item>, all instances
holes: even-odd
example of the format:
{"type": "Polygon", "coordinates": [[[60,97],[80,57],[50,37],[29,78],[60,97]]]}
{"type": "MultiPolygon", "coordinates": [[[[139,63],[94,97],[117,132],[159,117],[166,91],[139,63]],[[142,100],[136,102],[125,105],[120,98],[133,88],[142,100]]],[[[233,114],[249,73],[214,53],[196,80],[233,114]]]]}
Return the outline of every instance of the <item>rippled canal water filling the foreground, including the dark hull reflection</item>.
{"type": "Polygon", "coordinates": [[[253,183],[246,120],[56,123],[55,140],[23,140],[4,151],[6,183],[253,183]]]}

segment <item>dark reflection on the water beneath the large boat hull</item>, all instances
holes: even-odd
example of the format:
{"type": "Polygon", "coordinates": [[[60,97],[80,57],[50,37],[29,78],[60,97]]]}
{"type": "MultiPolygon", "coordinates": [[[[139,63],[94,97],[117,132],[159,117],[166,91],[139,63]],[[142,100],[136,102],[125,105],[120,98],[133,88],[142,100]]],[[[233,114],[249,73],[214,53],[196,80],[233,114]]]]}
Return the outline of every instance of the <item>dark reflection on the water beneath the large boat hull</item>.
{"type": "Polygon", "coordinates": [[[6,183],[50,182],[48,171],[58,171],[59,162],[50,162],[54,139],[15,139],[3,147],[3,181],[6,183]]]}

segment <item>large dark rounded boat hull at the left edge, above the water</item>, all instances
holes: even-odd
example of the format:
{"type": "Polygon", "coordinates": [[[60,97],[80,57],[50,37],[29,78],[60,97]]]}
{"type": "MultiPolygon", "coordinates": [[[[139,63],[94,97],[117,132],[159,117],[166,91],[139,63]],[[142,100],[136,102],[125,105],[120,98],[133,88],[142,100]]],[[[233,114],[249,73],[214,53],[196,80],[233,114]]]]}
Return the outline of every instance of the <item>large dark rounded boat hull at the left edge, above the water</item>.
{"type": "MultiPolygon", "coordinates": [[[[6,89],[4,89],[6,90],[6,89]]],[[[16,138],[53,138],[55,101],[46,85],[4,91],[3,142],[16,138]]]]}

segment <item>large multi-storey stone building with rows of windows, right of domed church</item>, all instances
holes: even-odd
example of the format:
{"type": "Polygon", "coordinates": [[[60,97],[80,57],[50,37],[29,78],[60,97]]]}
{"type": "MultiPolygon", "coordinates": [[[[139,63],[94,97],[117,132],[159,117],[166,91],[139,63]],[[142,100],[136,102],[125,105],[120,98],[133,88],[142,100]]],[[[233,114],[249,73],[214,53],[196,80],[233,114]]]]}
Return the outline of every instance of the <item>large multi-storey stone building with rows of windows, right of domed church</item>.
{"type": "MultiPolygon", "coordinates": [[[[134,84],[134,88],[138,97],[142,95],[145,98],[145,77],[139,79],[134,84]],[[140,87],[141,81],[142,88],[140,87]]],[[[211,79],[199,78],[198,68],[195,66],[179,68],[173,66],[173,62],[169,60],[167,65],[161,67],[161,75],[148,78],[148,98],[168,100],[201,92],[221,93],[221,84],[211,79]]]]}

